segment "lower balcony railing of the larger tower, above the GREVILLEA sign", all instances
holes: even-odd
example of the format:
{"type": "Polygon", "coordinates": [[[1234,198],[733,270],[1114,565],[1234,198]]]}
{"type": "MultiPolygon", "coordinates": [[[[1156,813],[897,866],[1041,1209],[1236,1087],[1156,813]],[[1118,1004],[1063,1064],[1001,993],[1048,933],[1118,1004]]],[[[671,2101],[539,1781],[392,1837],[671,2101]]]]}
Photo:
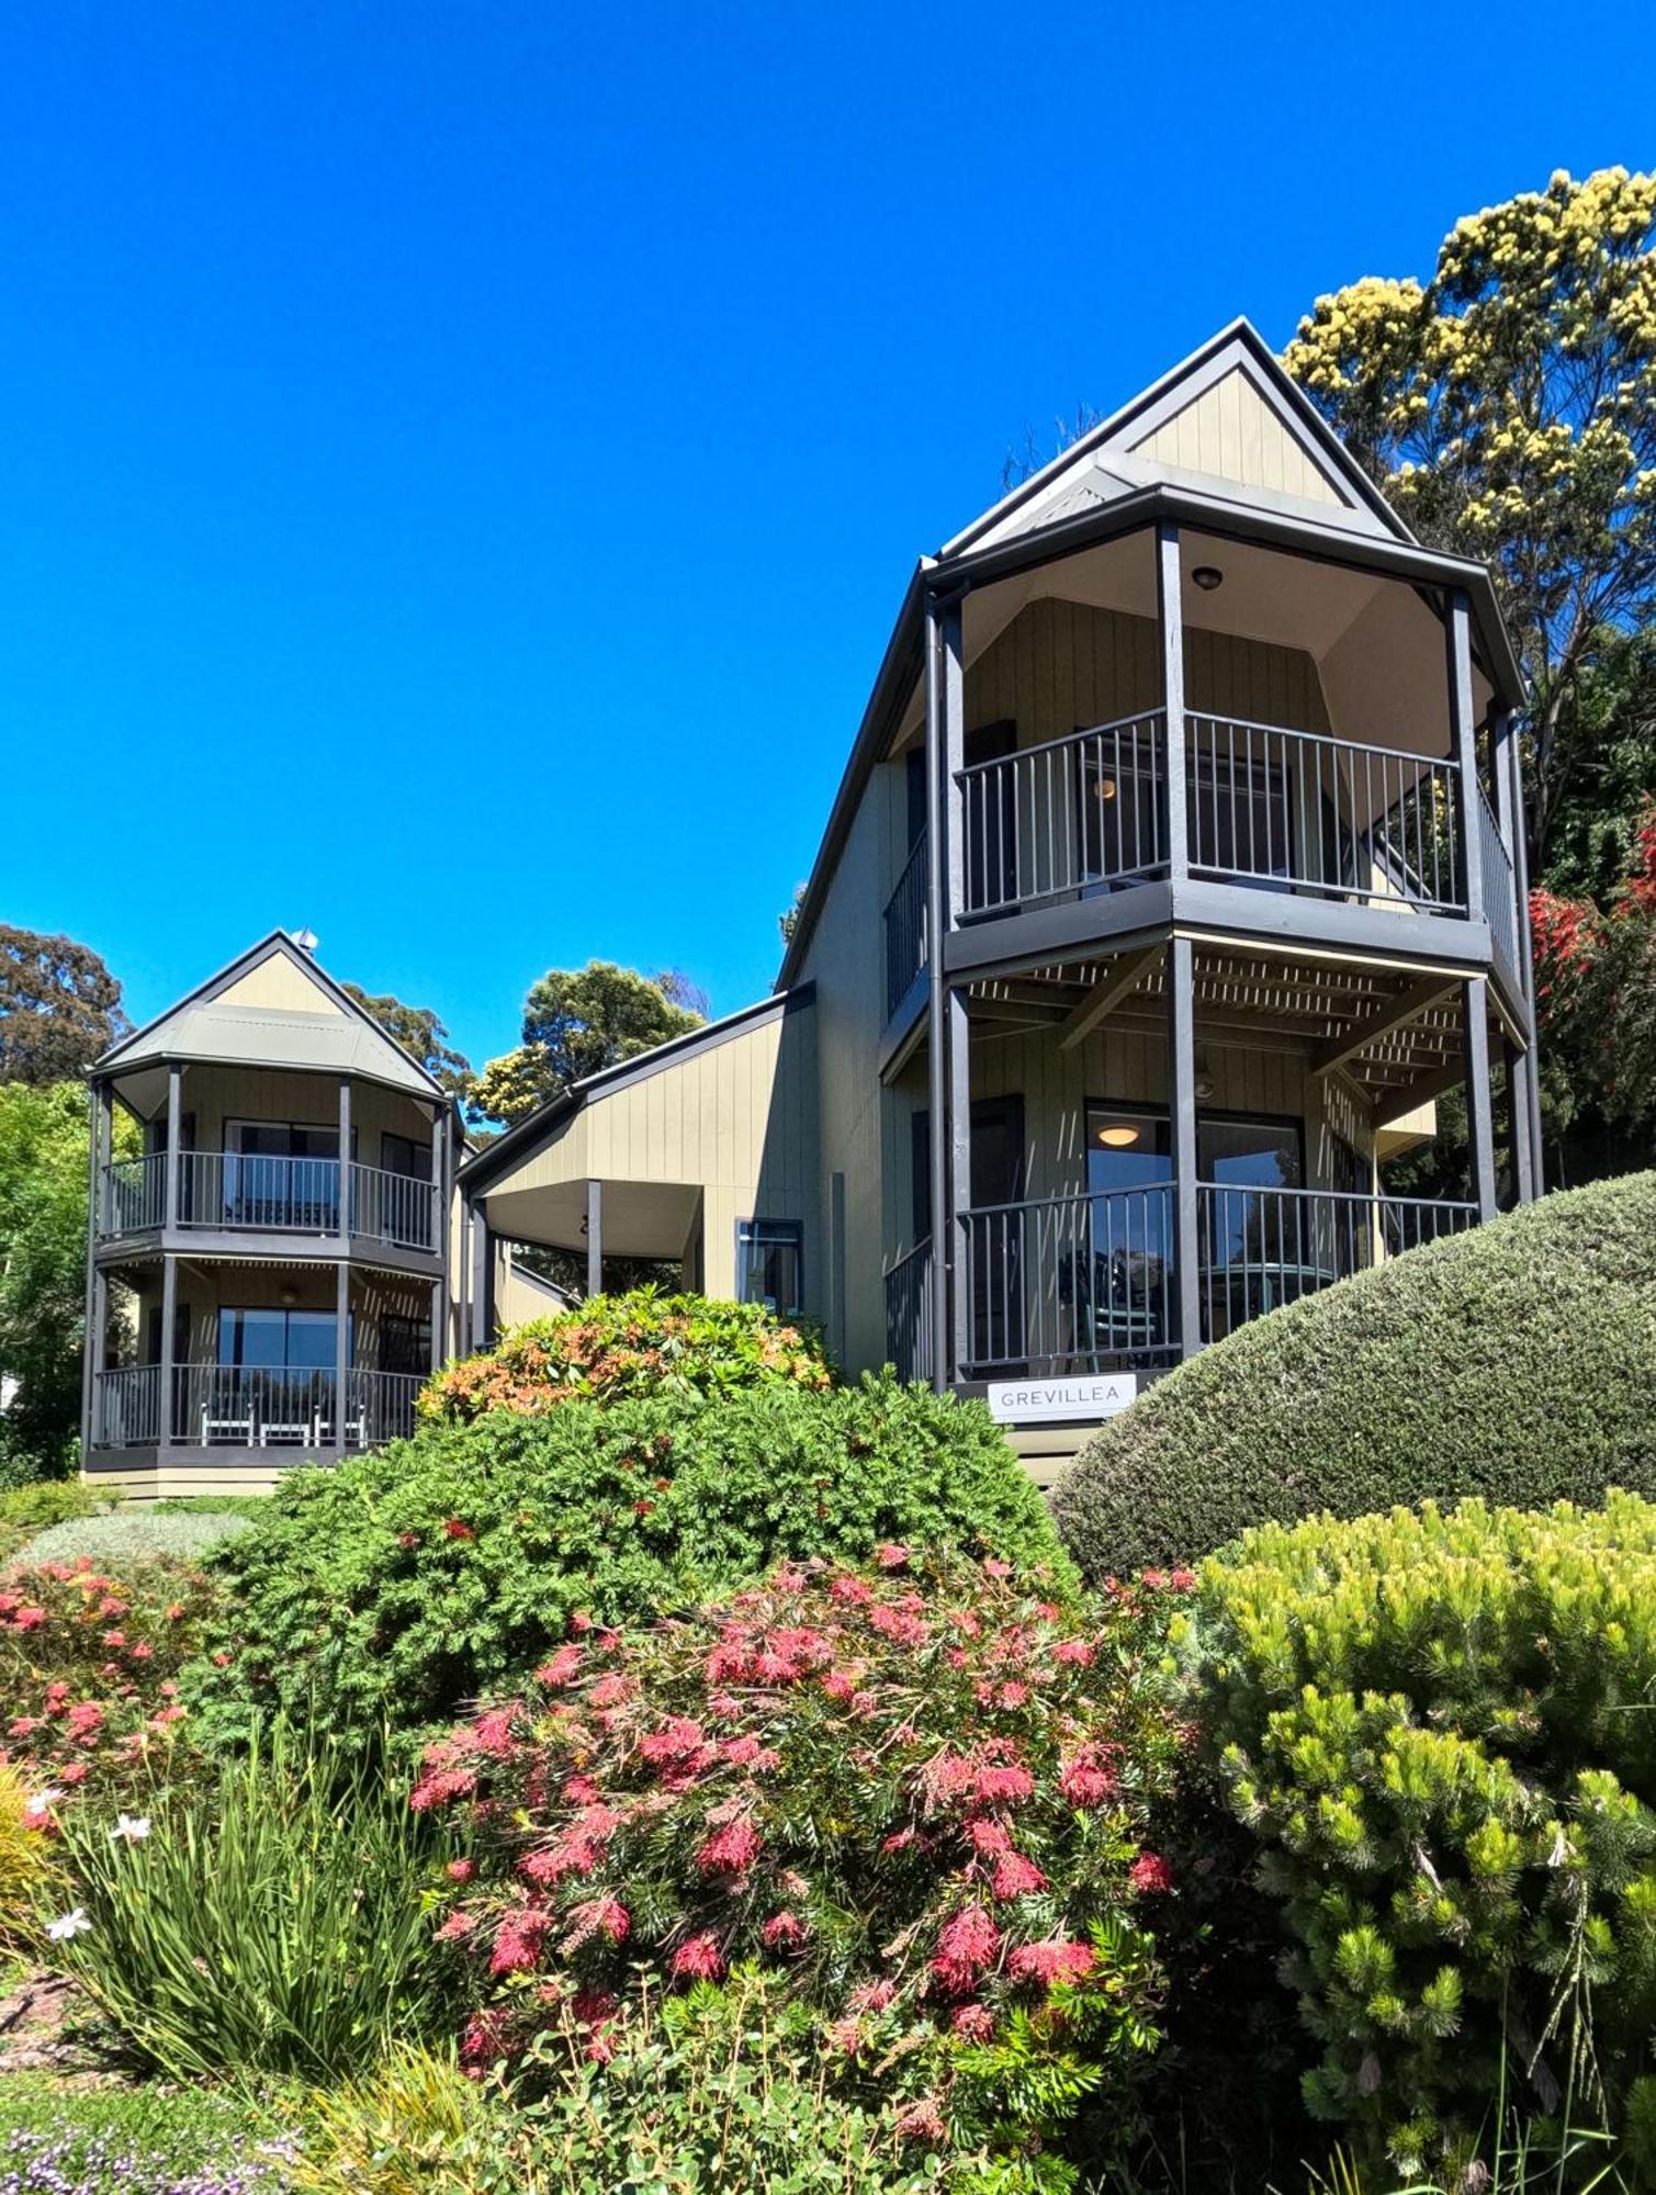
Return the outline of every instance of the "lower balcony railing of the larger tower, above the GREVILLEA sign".
{"type": "MultiPolygon", "coordinates": [[[[969,1350],[962,1378],[1162,1370],[1177,1361],[1175,1187],[1048,1196],[962,1212],[969,1350]]],[[[1474,1227],[1472,1203],[1197,1183],[1201,1341],[1419,1242],[1474,1227]]],[[[887,1352],[933,1363],[931,1245],[885,1275],[887,1352]]]]}

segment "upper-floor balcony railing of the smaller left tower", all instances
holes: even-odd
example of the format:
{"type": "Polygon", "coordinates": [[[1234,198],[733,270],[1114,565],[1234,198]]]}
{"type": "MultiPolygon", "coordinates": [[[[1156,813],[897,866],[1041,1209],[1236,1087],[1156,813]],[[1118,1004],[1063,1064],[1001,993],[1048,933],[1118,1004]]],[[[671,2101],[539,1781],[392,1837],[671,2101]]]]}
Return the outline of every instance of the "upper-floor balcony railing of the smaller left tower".
{"type": "MultiPolygon", "coordinates": [[[[347,1166],[349,1236],[435,1256],[441,1198],[430,1181],[382,1166],[347,1166]]],[[[103,1168],[99,1240],[158,1234],[169,1225],[167,1155],[114,1159],[103,1168]]],[[[235,1150],[182,1150],[171,1225],[182,1234],[340,1234],[338,1159],[268,1159],[235,1150]]]]}

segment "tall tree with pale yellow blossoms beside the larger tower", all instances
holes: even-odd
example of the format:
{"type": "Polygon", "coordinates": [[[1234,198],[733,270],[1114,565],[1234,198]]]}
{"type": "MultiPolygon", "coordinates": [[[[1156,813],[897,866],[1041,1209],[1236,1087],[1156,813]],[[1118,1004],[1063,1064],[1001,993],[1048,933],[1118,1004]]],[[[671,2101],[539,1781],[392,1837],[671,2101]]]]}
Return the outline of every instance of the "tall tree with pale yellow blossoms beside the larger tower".
{"type": "Polygon", "coordinates": [[[1524,667],[1537,871],[1595,766],[1584,685],[1656,612],[1656,176],[1553,176],[1456,222],[1430,283],[1322,296],[1285,351],[1392,505],[1489,562],[1524,667]]]}

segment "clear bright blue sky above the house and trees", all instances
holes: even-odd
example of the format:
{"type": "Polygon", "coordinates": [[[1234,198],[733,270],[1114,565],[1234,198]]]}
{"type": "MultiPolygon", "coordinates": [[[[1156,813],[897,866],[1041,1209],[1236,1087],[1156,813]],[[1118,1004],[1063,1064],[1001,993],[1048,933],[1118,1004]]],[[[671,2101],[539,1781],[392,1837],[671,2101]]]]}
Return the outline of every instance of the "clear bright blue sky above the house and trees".
{"type": "Polygon", "coordinates": [[[1641,18],[9,9],[0,920],[136,1018],[310,924],[477,1060],[593,955],[762,994],[1026,426],[1649,165],[1641,18]]]}

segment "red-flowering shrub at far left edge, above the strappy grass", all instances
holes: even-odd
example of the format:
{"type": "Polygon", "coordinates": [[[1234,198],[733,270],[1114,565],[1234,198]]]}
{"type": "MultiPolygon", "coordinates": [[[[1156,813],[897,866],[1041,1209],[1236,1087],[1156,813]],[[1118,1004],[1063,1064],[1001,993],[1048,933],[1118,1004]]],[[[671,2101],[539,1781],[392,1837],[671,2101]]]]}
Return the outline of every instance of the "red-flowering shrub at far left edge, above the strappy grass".
{"type": "Polygon", "coordinates": [[[147,1789],[178,1738],[178,1670],[198,1651],[217,1589],[200,1572],[147,1561],[132,1576],[40,1563],[0,1580],[0,1765],[51,1800],[92,1785],[147,1789]]]}

